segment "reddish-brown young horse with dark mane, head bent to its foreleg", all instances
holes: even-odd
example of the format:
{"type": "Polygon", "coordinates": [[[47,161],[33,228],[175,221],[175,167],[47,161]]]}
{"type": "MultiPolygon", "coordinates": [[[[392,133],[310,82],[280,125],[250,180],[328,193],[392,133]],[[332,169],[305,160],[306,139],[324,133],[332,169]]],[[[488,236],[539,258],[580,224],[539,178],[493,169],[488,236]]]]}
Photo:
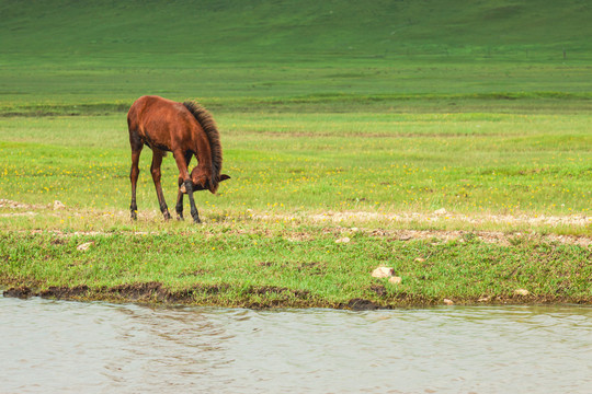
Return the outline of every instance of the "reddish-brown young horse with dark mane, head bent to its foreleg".
{"type": "Polygon", "coordinates": [[[127,113],[129,146],[132,147],[132,219],[137,219],[136,185],[139,175],[139,157],[146,144],[152,150],[150,172],[164,219],[170,219],[160,185],[160,165],[167,152],[172,152],[179,167],[179,194],[177,216],[183,219],[183,195],[189,196],[193,221],[200,223],[200,213],[195,207],[193,192],[209,190],[215,194],[218,184],[230,176],[220,174],[223,151],[220,136],[214,118],[196,102],[177,103],[159,96],[141,96],[127,113]],[[197,165],[189,172],[191,159],[197,159],[197,165]]]}

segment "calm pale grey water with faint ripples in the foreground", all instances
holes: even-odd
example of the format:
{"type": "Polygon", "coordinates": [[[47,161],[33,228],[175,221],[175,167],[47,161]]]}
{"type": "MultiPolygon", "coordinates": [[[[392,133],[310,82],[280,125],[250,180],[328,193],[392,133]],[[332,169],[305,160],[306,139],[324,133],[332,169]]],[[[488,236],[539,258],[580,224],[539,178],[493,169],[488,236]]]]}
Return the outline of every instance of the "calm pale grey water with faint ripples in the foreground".
{"type": "Polygon", "coordinates": [[[0,298],[0,393],[591,393],[592,309],[0,298]]]}

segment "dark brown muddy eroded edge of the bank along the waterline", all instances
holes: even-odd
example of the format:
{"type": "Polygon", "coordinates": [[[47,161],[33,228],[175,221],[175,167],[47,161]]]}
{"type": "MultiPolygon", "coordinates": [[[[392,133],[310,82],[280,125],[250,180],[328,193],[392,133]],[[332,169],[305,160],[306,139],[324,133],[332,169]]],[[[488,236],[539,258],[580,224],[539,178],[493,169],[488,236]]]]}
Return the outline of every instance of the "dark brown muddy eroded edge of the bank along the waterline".
{"type": "MultiPolygon", "coordinates": [[[[428,308],[444,305],[445,300],[439,298],[425,298],[421,294],[409,294],[405,291],[388,294],[383,286],[372,287],[376,299],[354,298],[348,302],[332,303],[314,297],[306,290],[293,290],[282,287],[251,287],[242,292],[242,297],[234,300],[225,300],[220,293],[228,291],[229,285],[195,286],[189,289],[171,291],[160,282],[119,285],[112,288],[90,289],[87,286],[49,287],[46,290],[35,291],[26,286],[8,289],[4,297],[27,299],[42,297],[59,300],[107,300],[116,302],[137,303],[164,303],[164,304],[194,304],[194,305],[224,305],[250,309],[270,308],[333,308],[352,311],[375,311],[394,308],[428,308]],[[220,294],[220,297],[218,297],[220,294]],[[252,297],[255,297],[254,299],[252,297]]],[[[481,296],[477,298],[456,299],[455,305],[519,305],[519,304],[590,304],[592,298],[570,298],[554,294],[509,294],[509,296],[481,296]]]]}

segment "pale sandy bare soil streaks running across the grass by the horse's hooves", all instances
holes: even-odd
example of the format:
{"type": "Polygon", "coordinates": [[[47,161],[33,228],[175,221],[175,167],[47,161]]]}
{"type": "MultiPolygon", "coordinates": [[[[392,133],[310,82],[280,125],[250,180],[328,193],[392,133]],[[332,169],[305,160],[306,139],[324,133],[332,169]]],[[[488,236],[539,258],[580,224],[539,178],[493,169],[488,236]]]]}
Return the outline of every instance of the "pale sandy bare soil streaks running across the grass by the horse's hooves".
{"type": "MultiPolygon", "coordinates": [[[[0,213],[1,217],[10,216],[35,216],[39,210],[54,210],[54,211],[68,211],[68,208],[65,207],[59,201],[54,201],[48,206],[35,206],[27,205],[19,201],[0,199],[0,208],[15,210],[14,212],[3,212],[0,213]]],[[[127,211],[119,211],[116,213],[117,217],[127,218],[127,211]]],[[[159,220],[160,212],[146,211],[143,215],[151,220],[159,220]]],[[[341,234],[349,234],[353,232],[363,232],[364,234],[369,234],[372,236],[382,236],[388,237],[391,240],[399,241],[409,241],[409,240],[433,240],[434,242],[446,242],[452,240],[457,240],[459,242],[465,242],[468,239],[475,237],[483,242],[498,243],[510,245],[513,242],[522,240],[532,240],[532,241],[543,241],[543,242],[557,242],[562,244],[574,244],[580,246],[591,246],[592,237],[590,236],[577,236],[577,235],[561,235],[561,234],[540,234],[536,231],[528,232],[502,232],[502,231],[464,231],[464,230],[385,230],[376,228],[376,222],[399,222],[399,223],[413,223],[413,224],[435,224],[435,223],[446,223],[446,222],[462,222],[468,223],[475,227],[487,225],[488,223],[493,224],[508,224],[508,225],[525,225],[525,227],[536,227],[544,225],[547,229],[553,230],[553,228],[561,225],[574,225],[587,228],[592,225],[592,217],[583,215],[573,215],[573,216],[511,216],[511,215],[473,215],[467,216],[463,213],[447,212],[444,209],[436,210],[432,213],[418,213],[418,212],[399,212],[399,213],[379,213],[379,212],[364,212],[364,211],[328,211],[323,213],[315,213],[311,216],[304,217],[291,217],[282,215],[260,215],[253,213],[250,215],[252,220],[255,221],[275,221],[275,220],[287,220],[293,219],[307,220],[319,223],[331,223],[333,227],[329,230],[331,232],[337,232],[341,234]],[[357,227],[342,227],[340,224],[344,223],[354,223],[357,227]],[[335,228],[334,224],[338,224],[335,228]]],[[[209,224],[210,225],[210,224],[209,224]]],[[[214,224],[214,225],[219,225],[214,224]]],[[[227,224],[224,224],[227,225],[227,224]]],[[[33,233],[41,233],[41,230],[34,230],[33,233]]],[[[59,236],[76,236],[76,235],[111,235],[109,232],[102,231],[88,231],[88,232],[68,232],[64,233],[60,230],[53,230],[53,233],[59,236]]],[[[249,230],[237,230],[237,232],[249,232],[249,230]]],[[[148,235],[156,234],[157,232],[130,232],[135,235],[148,235]]],[[[306,241],[309,240],[312,234],[306,232],[295,232],[286,231],[285,237],[291,241],[306,241]]]]}

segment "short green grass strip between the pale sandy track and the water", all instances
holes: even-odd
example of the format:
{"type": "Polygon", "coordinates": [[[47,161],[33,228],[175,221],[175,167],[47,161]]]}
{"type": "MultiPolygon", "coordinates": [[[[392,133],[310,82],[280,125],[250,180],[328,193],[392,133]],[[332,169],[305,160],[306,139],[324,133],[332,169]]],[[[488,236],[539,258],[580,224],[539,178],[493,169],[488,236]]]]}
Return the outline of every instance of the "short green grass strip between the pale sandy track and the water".
{"type": "Polygon", "coordinates": [[[0,279],[45,289],[84,286],[80,297],[116,299],[114,289],[158,278],[172,294],[184,291],[183,302],[227,306],[343,306],[353,299],[406,306],[445,298],[475,303],[485,297],[492,302],[591,301],[590,252],[581,247],[434,244],[360,233],[335,244],[334,234],[320,229],[308,229],[314,234],[308,241],[286,237],[284,225],[248,235],[240,230],[202,228],[182,237],[167,232],[69,239],[3,233],[0,279]],[[77,251],[89,240],[94,244],[88,251],[77,251]],[[372,278],[377,263],[394,267],[402,282],[372,278]],[[527,289],[531,297],[515,297],[516,289],[527,289]]]}

